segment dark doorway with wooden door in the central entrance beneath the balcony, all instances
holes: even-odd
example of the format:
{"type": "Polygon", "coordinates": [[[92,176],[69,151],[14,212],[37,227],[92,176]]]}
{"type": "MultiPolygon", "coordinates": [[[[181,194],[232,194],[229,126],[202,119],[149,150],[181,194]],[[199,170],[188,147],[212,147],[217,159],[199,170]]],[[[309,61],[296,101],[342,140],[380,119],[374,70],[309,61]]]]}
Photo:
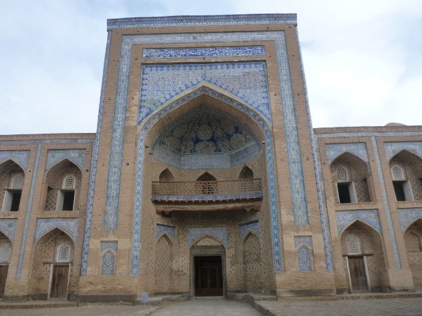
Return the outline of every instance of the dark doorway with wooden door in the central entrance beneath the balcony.
{"type": "Polygon", "coordinates": [[[222,296],[222,256],[196,256],[194,257],[194,267],[195,295],[222,296]]]}

